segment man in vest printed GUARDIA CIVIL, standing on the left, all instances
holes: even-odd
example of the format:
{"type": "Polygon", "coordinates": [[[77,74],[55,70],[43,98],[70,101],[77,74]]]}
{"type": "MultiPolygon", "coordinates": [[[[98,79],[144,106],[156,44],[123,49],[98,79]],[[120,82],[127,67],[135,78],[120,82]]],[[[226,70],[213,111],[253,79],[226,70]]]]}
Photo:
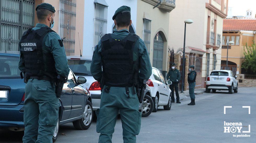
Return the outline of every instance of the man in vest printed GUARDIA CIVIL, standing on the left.
{"type": "Polygon", "coordinates": [[[69,73],[67,57],[54,25],[55,7],[42,3],[36,7],[39,23],[20,40],[19,69],[25,73],[24,143],[53,142],[60,102],[55,94],[57,75],[69,73]]]}

